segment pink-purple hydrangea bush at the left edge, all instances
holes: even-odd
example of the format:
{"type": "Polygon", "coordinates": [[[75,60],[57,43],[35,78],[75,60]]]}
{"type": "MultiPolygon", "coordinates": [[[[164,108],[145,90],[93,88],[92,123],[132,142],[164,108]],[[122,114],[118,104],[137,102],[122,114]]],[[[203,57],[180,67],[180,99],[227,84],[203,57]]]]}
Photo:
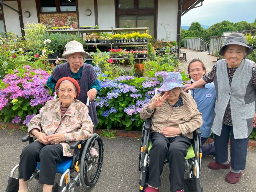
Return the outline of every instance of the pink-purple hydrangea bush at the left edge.
{"type": "Polygon", "coordinates": [[[30,66],[9,70],[0,80],[0,120],[27,126],[46,101],[53,99],[45,86],[49,76],[49,73],[30,66]]]}

